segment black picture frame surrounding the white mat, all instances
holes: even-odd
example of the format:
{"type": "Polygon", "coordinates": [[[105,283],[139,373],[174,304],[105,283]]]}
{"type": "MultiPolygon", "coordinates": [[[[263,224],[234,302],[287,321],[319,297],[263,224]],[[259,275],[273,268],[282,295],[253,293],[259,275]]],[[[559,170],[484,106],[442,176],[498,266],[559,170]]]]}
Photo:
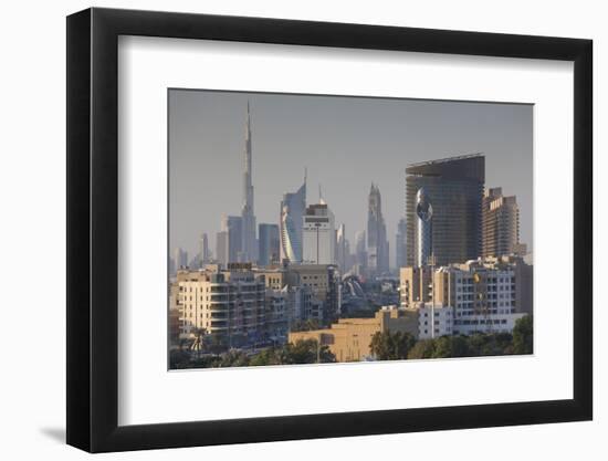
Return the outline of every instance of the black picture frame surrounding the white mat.
{"type": "Polygon", "coordinates": [[[91,452],[593,418],[590,40],[87,9],[67,17],[67,443],[91,452]],[[574,398],[125,426],[118,416],[119,35],[574,62],[574,398]]]}

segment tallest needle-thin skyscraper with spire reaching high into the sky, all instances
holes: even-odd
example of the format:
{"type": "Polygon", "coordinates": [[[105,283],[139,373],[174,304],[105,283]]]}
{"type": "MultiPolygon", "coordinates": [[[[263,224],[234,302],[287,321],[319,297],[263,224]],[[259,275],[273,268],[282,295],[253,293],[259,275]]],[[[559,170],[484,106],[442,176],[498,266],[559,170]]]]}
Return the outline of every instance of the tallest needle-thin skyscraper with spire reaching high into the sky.
{"type": "Polygon", "coordinates": [[[251,113],[249,101],[247,103],[245,122],[245,148],[244,148],[244,170],[243,170],[243,205],[241,210],[242,221],[242,243],[241,261],[251,262],[256,260],[258,244],[255,240],[255,213],[253,209],[253,182],[251,160],[251,113]]]}

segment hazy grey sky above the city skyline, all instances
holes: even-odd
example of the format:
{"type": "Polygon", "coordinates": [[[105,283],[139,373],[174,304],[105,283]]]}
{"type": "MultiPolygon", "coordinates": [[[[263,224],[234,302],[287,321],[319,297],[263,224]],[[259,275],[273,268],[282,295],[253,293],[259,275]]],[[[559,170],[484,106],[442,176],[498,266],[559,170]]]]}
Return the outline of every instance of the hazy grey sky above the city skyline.
{"type": "Polygon", "coordinates": [[[171,252],[181,247],[192,258],[207,232],[214,253],[222,212],[240,214],[248,101],[258,223],[279,222],[282,195],[307,168],[307,203],[318,201],[321,184],[354,247],[374,181],[392,264],[406,166],[483,153],[485,186],[517,197],[521,241],[532,249],[532,105],[169,90],[171,252]]]}

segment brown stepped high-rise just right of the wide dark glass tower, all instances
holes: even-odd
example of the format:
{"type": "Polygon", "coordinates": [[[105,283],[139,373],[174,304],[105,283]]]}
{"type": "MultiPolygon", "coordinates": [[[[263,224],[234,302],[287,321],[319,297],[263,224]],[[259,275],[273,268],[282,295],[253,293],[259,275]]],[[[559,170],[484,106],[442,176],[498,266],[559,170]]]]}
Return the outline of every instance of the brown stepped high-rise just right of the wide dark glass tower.
{"type": "Polygon", "coordinates": [[[517,199],[504,197],[500,187],[486,190],[482,205],[482,256],[518,253],[520,248],[517,199]]]}

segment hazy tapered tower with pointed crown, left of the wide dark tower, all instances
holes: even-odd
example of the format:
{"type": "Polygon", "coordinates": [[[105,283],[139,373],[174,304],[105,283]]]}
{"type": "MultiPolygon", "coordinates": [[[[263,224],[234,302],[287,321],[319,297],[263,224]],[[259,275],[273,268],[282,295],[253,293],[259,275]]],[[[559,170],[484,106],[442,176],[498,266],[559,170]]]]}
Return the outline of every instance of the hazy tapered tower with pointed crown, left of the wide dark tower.
{"type": "Polygon", "coordinates": [[[388,272],[388,241],[382,217],[382,198],[371,184],[367,210],[367,270],[370,274],[388,272]]]}

